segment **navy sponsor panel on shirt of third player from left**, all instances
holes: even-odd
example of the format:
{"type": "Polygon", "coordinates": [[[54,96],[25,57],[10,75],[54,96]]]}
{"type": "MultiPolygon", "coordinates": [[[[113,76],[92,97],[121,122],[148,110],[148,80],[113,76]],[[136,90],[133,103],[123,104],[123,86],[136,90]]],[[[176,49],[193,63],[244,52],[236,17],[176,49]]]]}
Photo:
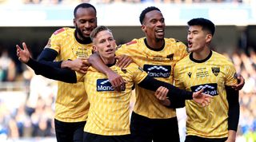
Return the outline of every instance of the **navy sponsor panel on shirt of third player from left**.
{"type": "Polygon", "coordinates": [[[150,77],[170,77],[170,65],[144,65],[143,70],[150,77]]]}

